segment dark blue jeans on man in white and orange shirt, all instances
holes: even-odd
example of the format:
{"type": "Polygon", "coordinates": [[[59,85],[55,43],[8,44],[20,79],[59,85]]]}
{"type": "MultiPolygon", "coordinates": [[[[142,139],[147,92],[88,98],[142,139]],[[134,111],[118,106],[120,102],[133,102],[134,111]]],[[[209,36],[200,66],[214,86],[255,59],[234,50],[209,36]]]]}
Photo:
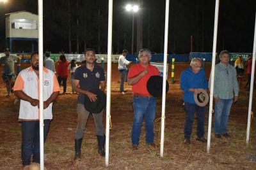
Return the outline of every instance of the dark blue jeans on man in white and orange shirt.
{"type": "MultiPolygon", "coordinates": [[[[44,141],[49,132],[50,120],[44,120],[44,141]]],[[[22,121],[21,122],[21,158],[22,165],[30,165],[31,155],[33,154],[33,162],[40,163],[40,132],[39,121],[22,121]]]]}

